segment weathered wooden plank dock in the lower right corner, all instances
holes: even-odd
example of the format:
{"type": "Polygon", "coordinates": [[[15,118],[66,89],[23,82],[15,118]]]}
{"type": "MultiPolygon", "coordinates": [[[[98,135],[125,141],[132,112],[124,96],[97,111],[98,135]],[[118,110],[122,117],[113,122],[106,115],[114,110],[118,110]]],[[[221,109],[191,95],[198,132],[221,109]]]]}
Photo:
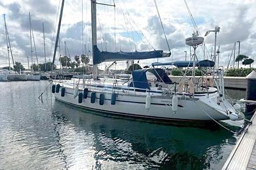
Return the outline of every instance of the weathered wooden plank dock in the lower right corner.
{"type": "Polygon", "coordinates": [[[256,169],[256,112],[251,118],[252,124],[245,127],[235,147],[227,158],[222,170],[256,169]]]}

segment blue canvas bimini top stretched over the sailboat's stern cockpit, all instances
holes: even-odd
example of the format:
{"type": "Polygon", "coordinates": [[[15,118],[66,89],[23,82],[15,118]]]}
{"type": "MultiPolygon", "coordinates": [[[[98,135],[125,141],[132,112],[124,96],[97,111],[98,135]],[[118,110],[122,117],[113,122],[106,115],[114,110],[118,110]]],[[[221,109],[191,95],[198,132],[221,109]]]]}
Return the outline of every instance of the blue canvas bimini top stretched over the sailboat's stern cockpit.
{"type": "MultiPolygon", "coordinates": [[[[210,60],[196,61],[196,67],[213,67],[215,63],[210,60]]],[[[173,61],[168,63],[152,63],[152,66],[176,66],[176,67],[193,67],[193,61],[173,61]]]]}

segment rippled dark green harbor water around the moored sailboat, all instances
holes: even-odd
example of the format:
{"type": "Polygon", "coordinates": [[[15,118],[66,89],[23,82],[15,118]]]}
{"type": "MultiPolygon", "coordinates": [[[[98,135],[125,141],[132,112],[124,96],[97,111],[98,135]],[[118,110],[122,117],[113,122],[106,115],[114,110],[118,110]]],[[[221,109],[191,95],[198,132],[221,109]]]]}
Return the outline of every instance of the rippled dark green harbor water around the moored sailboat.
{"type": "MultiPolygon", "coordinates": [[[[174,126],[75,109],[55,101],[48,85],[0,82],[0,169],[221,169],[238,139],[216,124],[174,126]]],[[[222,124],[239,131],[234,125],[243,122],[222,124]]]]}

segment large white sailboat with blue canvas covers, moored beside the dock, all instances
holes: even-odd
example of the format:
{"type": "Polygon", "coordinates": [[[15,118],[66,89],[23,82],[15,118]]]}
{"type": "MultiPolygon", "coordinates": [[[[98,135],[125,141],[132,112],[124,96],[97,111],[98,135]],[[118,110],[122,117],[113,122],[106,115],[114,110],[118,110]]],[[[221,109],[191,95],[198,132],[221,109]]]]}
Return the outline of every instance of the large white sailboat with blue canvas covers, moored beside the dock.
{"type": "MultiPolygon", "coordinates": [[[[194,76],[190,80],[186,75],[174,83],[165,70],[154,67],[171,64],[178,67],[193,66],[195,69],[199,66],[214,67],[213,61],[194,59],[189,63],[154,63],[149,69],[133,71],[132,78],[126,82],[99,80],[97,64],[104,61],[160,58],[170,54],[163,53],[162,50],[101,52],[97,47],[96,37],[96,0],[91,0],[91,16],[94,78],[84,81],[54,81],[52,93],[57,101],[97,112],[149,118],[154,121],[218,121],[243,118],[224,97],[224,79],[221,72],[218,77],[202,78],[201,83],[195,82],[194,76]]],[[[194,47],[194,55],[202,39],[196,36],[187,39],[187,44],[194,47]]]]}

